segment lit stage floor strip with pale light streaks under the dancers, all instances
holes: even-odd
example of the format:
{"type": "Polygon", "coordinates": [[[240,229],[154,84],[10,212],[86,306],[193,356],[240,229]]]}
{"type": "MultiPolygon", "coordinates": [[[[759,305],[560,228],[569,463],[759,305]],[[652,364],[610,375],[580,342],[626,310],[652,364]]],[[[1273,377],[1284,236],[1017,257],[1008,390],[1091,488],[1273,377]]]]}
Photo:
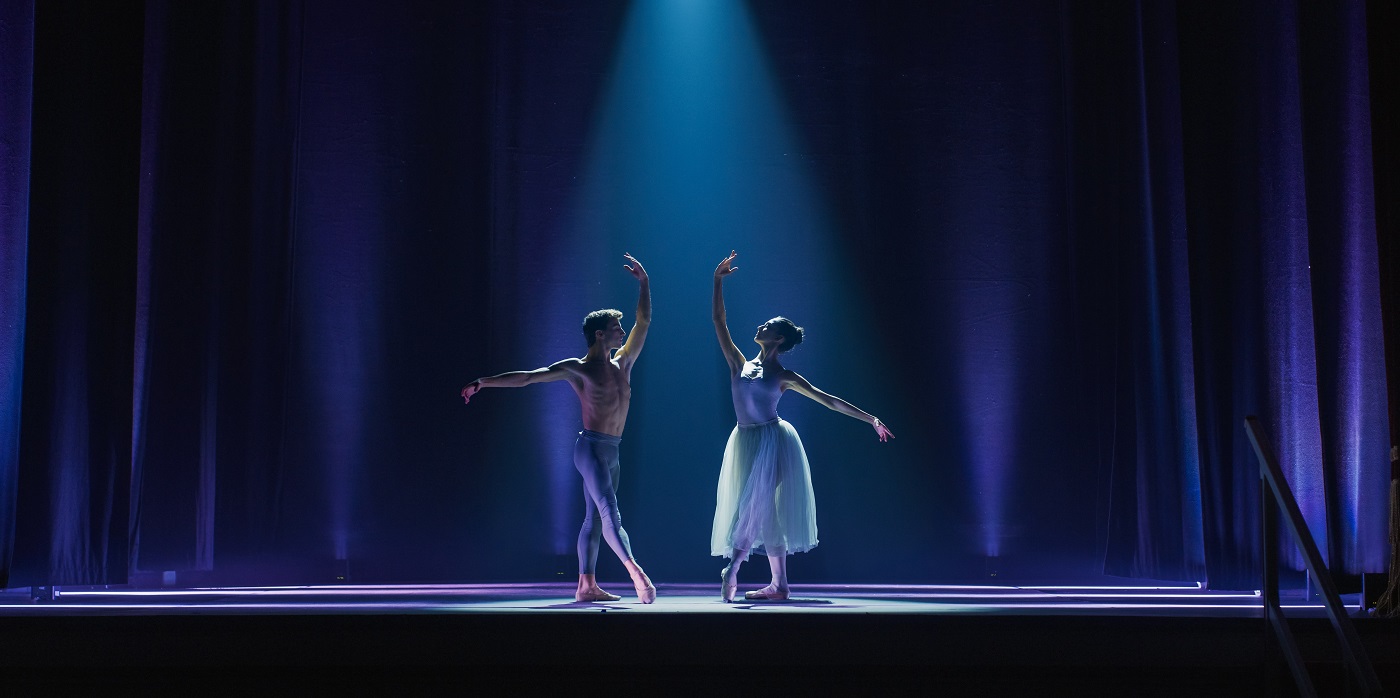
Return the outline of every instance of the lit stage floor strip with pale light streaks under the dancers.
{"type": "MultiPolygon", "coordinates": [[[[1253,592],[1198,586],[958,586],[795,585],[785,601],[724,603],[714,585],[658,585],[657,603],[641,604],[624,585],[605,585],[619,601],[578,603],[573,585],[337,585],[211,589],[57,587],[34,599],[29,589],[0,594],[0,615],[151,614],[962,614],[962,615],[1163,615],[1261,618],[1253,592]]],[[[1357,611],[1357,597],[1350,596],[1357,611]]],[[[1285,592],[1288,617],[1323,617],[1317,600],[1285,592]]]]}

